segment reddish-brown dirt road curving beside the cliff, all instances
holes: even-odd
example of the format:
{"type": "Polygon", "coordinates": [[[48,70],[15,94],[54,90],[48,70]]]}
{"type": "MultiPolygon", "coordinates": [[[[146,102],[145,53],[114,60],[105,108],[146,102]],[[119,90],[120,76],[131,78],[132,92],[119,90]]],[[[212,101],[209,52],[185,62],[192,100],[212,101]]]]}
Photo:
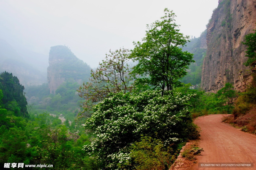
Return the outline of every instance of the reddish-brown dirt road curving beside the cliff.
{"type": "Polygon", "coordinates": [[[214,114],[198,117],[195,124],[201,127],[199,147],[204,149],[197,156],[198,163],[239,163],[253,162],[254,167],[198,167],[195,169],[256,169],[256,136],[241,132],[229,124],[221,122],[222,115],[214,114]]]}

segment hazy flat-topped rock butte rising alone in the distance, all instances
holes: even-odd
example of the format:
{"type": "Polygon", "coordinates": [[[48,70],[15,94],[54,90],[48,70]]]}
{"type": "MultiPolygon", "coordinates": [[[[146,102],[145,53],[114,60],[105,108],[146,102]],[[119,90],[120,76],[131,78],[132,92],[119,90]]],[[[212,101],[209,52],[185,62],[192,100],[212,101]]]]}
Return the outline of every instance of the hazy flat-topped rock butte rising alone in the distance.
{"type": "Polygon", "coordinates": [[[47,68],[50,93],[55,94],[55,90],[67,81],[82,84],[89,78],[90,70],[90,67],[78,59],[67,46],[51,47],[47,68]]]}

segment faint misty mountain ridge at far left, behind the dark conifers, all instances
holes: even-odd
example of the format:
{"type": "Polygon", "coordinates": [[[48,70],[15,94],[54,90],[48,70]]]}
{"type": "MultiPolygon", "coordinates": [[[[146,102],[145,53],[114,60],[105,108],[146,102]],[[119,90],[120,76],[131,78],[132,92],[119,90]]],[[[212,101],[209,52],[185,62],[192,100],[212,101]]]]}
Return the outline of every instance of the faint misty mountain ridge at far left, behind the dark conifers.
{"type": "MultiPolygon", "coordinates": [[[[37,53],[31,52],[30,58],[40,58],[37,53]]],[[[35,59],[36,60],[36,59],[35,59]]],[[[41,85],[46,82],[46,74],[36,68],[42,64],[31,62],[25,54],[18,53],[5,40],[0,39],[0,72],[7,71],[17,76],[20,84],[27,86],[41,85]]],[[[45,68],[46,70],[46,68],[45,68]]],[[[46,72],[46,71],[45,71],[46,72]]]]}

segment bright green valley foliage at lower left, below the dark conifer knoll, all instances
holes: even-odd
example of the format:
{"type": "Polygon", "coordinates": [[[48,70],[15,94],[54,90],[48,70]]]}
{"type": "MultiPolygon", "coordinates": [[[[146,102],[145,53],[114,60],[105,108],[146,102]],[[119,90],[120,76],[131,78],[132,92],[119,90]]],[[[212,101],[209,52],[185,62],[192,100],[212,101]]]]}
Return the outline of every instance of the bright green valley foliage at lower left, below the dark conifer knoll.
{"type": "Polygon", "coordinates": [[[81,139],[75,141],[79,136],[69,133],[68,127],[60,123],[58,117],[46,113],[30,114],[29,119],[24,119],[0,109],[0,164],[45,163],[53,164],[52,169],[98,169],[97,160],[81,150],[92,136],[83,132],[81,139]]]}

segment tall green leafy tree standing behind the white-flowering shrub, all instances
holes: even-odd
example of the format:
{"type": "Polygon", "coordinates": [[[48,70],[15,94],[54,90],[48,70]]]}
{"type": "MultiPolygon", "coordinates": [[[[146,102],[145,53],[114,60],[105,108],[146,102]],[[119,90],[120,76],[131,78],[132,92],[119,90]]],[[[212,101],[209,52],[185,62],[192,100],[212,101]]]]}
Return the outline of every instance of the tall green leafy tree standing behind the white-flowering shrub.
{"type": "MultiPolygon", "coordinates": [[[[179,85],[179,79],[186,75],[186,69],[193,60],[193,54],[182,51],[189,36],[179,32],[175,23],[175,14],[167,8],[160,21],[147,25],[146,37],[141,42],[134,42],[131,58],[138,61],[133,73],[140,75],[140,83],[162,90],[173,90],[179,85]],[[149,77],[148,77],[149,76],[149,77]]],[[[163,95],[164,91],[162,91],[163,95]]]]}

